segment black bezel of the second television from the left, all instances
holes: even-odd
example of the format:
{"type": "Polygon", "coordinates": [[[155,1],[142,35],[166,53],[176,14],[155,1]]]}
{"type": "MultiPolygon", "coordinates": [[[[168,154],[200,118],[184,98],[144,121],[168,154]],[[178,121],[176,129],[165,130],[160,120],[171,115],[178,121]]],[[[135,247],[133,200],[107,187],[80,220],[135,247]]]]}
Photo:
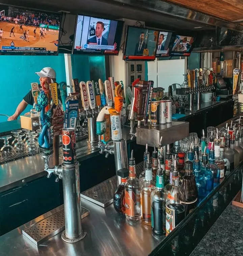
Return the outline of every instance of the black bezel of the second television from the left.
{"type": "MultiPolygon", "coordinates": [[[[123,20],[114,20],[114,19],[109,19],[109,18],[104,18],[104,17],[98,17],[98,16],[91,16],[91,15],[85,15],[85,14],[77,14],[76,15],[76,21],[75,21],[75,32],[74,32],[74,41],[73,41],[73,49],[72,49],[72,54],[73,55],[92,55],[92,56],[102,56],[102,55],[107,55],[107,56],[118,56],[119,55],[119,50],[120,50],[120,46],[121,46],[121,38],[123,36],[123,30],[124,30],[124,24],[125,22],[123,20]],[[121,37],[120,37],[120,44],[119,44],[119,48],[118,48],[118,53],[114,54],[114,53],[105,53],[105,52],[74,52],[74,43],[75,43],[75,38],[76,38],[76,31],[77,31],[77,21],[78,21],[78,16],[82,15],[82,16],[86,16],[86,17],[92,17],[92,18],[99,18],[99,19],[106,19],[106,20],[113,20],[113,21],[118,21],[118,22],[122,22],[123,23],[123,28],[121,30],[121,37]]],[[[105,50],[104,50],[105,51],[105,50]]]]}

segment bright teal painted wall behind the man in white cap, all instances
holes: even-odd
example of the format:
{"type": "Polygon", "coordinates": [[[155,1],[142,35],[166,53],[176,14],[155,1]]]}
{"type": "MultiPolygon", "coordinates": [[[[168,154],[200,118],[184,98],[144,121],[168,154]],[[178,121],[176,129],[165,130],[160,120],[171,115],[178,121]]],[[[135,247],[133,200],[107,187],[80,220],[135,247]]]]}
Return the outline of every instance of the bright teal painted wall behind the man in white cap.
{"type": "MultiPolygon", "coordinates": [[[[94,57],[91,57],[94,58],[94,57]]],[[[89,56],[71,55],[73,78],[79,81],[90,80],[89,56]]],[[[95,59],[93,59],[95,60],[95,59]]],[[[105,70],[104,57],[98,57],[97,67],[105,70]]],[[[0,114],[12,115],[23,97],[31,89],[30,83],[38,82],[35,74],[43,67],[52,67],[57,74],[57,82],[66,81],[64,55],[58,56],[1,56],[1,103],[0,114]]],[[[28,105],[23,113],[30,110],[28,105]]],[[[7,121],[5,116],[0,116],[0,122],[7,121]]]]}

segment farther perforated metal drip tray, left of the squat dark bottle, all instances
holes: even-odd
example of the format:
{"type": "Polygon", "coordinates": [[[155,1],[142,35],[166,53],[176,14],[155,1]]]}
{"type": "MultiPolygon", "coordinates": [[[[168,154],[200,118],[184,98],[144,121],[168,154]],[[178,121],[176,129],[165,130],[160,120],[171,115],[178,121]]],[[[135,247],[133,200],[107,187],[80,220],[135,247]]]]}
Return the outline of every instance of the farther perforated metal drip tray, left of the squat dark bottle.
{"type": "Polygon", "coordinates": [[[116,176],[98,184],[81,193],[81,197],[102,207],[107,207],[113,202],[113,195],[117,189],[116,176]]]}

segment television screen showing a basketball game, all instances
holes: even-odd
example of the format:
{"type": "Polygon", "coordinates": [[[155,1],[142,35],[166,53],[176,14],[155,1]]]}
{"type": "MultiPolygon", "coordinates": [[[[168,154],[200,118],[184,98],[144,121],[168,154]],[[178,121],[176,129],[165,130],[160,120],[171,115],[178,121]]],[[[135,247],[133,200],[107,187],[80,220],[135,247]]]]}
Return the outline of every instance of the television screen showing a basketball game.
{"type": "Polygon", "coordinates": [[[0,5],[0,55],[58,55],[61,14],[0,5]]]}

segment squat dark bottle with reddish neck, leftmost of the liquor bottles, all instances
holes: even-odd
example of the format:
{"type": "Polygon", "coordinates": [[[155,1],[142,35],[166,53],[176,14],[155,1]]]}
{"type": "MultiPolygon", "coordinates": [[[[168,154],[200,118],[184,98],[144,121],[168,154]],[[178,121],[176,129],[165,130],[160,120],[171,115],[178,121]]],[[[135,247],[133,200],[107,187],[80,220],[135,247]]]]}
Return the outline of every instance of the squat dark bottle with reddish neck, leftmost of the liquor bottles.
{"type": "Polygon", "coordinates": [[[118,213],[125,214],[125,183],[127,181],[127,177],[121,178],[121,183],[117,187],[116,192],[113,196],[113,206],[118,213]]]}

